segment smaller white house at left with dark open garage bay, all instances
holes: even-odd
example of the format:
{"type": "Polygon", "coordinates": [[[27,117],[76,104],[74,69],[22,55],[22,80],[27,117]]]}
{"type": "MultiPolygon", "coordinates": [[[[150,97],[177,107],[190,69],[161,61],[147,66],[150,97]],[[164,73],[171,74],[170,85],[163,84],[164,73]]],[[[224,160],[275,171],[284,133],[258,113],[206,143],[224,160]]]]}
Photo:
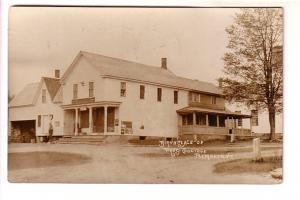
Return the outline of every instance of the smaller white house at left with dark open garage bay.
{"type": "Polygon", "coordinates": [[[11,141],[44,141],[53,117],[53,135],[63,134],[59,71],[56,77],[42,77],[39,82],[26,85],[9,103],[9,137],[11,141]]]}

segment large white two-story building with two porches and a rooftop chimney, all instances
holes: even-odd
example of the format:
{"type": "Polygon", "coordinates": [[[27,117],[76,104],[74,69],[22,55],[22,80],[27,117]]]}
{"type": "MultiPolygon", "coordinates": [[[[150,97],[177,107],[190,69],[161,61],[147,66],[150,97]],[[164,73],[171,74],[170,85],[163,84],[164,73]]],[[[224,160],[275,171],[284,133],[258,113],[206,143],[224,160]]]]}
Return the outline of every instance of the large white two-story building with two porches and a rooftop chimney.
{"type": "Polygon", "coordinates": [[[237,129],[250,116],[228,111],[217,86],[176,76],[166,58],[155,67],[81,51],[59,83],[60,135],[250,133],[237,129]]]}

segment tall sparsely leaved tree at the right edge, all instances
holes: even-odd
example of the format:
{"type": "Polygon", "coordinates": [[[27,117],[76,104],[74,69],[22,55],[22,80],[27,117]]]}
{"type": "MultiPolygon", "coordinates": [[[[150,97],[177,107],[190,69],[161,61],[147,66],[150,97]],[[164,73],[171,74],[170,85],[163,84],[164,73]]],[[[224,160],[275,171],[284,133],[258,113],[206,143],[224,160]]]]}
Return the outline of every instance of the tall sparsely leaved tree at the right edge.
{"type": "Polygon", "coordinates": [[[224,95],[229,102],[267,110],[273,140],[275,116],[282,111],[282,9],[241,9],[226,32],[225,75],[219,79],[224,95]]]}

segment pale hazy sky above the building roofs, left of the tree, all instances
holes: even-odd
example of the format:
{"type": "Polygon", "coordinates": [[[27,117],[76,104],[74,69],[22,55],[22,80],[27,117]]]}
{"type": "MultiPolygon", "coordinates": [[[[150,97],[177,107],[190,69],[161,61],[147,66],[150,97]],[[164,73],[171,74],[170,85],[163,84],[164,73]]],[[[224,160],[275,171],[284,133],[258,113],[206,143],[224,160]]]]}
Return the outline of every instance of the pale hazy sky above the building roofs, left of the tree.
{"type": "Polygon", "coordinates": [[[217,84],[232,8],[12,7],[9,91],[63,73],[80,50],[168,68],[217,84]]]}

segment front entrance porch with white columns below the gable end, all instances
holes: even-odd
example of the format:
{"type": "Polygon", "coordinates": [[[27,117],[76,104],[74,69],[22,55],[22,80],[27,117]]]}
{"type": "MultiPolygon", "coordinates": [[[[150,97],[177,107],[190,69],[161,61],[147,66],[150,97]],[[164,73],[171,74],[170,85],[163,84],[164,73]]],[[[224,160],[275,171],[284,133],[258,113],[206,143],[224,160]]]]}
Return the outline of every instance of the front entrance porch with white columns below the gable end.
{"type": "Polygon", "coordinates": [[[68,105],[64,108],[64,135],[119,134],[119,103],[68,105]]]}

